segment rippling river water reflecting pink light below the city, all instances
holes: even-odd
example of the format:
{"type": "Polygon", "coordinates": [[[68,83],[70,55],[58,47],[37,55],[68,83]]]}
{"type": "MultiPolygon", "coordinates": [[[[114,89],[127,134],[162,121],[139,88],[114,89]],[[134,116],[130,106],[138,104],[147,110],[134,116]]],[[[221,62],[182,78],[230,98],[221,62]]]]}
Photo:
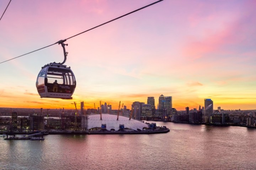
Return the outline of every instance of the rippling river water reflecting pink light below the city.
{"type": "Polygon", "coordinates": [[[256,129],[156,122],[167,134],[0,139],[0,169],[256,169],[256,129]]]}

